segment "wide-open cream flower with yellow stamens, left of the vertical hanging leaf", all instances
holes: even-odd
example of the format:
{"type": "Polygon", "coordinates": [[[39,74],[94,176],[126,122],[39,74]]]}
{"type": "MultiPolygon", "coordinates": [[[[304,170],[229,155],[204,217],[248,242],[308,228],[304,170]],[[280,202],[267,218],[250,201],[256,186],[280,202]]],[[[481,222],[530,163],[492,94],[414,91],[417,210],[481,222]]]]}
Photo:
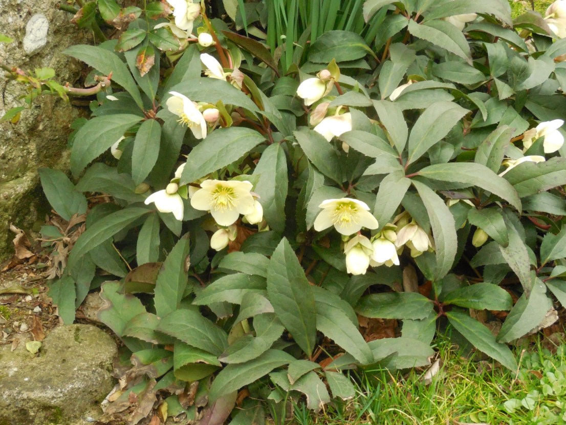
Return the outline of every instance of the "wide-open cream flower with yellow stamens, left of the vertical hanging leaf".
{"type": "Polygon", "coordinates": [[[230,226],[240,214],[254,214],[254,197],[249,181],[205,180],[191,197],[195,210],[210,211],[220,226],[230,226]]]}

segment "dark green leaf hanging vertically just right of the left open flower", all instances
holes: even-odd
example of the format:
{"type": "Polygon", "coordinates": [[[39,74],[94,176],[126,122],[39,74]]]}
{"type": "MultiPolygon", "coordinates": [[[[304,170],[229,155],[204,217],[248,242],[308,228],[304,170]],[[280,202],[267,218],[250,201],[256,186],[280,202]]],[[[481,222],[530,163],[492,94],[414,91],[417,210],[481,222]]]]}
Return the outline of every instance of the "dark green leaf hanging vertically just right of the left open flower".
{"type": "Polygon", "coordinates": [[[273,230],[283,233],[285,229],[285,198],[289,186],[287,158],[282,145],[273,143],[261,154],[254,175],[259,182],[254,192],[259,194],[263,216],[273,230]]]}

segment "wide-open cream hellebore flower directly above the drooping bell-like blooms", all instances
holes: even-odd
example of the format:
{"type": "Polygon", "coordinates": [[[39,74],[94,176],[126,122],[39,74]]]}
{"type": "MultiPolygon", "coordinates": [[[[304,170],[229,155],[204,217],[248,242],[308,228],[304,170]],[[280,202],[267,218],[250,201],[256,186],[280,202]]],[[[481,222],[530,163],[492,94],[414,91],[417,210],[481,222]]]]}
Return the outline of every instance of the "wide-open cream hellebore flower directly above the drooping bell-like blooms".
{"type": "Polygon", "coordinates": [[[359,232],[362,227],[376,229],[379,226],[378,220],[370,213],[370,207],[358,199],[327,199],[319,208],[323,210],[314,222],[317,232],[334,226],[338,233],[349,236],[359,232]]]}

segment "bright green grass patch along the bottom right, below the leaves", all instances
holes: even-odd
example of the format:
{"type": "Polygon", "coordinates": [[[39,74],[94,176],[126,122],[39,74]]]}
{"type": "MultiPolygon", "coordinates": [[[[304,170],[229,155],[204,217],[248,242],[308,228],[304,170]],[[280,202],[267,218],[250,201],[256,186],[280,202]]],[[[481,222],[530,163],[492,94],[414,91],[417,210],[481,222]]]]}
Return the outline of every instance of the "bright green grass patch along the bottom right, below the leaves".
{"type": "Polygon", "coordinates": [[[460,356],[447,339],[438,343],[440,370],[430,385],[424,371],[366,371],[358,396],[313,414],[295,406],[298,425],[421,425],[458,423],[566,423],[566,346],[555,354],[540,342],[518,350],[518,371],[460,356]],[[522,352],[522,354],[521,354],[522,352]]]}

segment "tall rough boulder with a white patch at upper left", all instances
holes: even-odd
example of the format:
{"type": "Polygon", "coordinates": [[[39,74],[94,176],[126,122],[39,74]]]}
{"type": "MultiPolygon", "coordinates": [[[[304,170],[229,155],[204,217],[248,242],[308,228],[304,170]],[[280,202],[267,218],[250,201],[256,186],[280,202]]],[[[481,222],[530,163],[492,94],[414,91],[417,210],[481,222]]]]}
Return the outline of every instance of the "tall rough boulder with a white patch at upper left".
{"type": "MultiPolygon", "coordinates": [[[[71,14],[57,8],[60,0],[0,0],[0,33],[14,42],[0,43],[0,61],[25,71],[50,67],[55,80],[73,84],[83,64],[62,54],[73,44],[89,43],[89,31],[70,22],[71,14]]],[[[63,2],[64,3],[64,2],[63,2]]],[[[0,116],[10,108],[23,106],[20,96],[26,93],[22,84],[3,78],[0,116]]],[[[28,230],[49,205],[38,188],[40,167],[67,168],[67,137],[70,124],[80,108],[55,96],[36,100],[22,112],[16,124],[0,124],[0,262],[13,253],[8,230],[10,223],[28,230]]]]}

